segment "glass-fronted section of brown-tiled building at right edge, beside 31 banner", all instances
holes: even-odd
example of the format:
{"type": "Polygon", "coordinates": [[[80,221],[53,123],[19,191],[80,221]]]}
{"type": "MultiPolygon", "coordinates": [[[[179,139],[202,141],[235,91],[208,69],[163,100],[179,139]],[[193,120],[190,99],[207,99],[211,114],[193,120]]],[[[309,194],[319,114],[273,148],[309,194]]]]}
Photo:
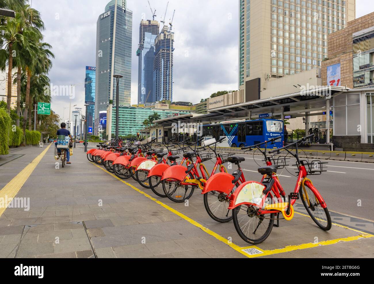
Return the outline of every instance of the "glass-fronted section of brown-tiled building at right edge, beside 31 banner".
{"type": "Polygon", "coordinates": [[[353,38],[353,87],[374,87],[374,31],[353,38]]]}

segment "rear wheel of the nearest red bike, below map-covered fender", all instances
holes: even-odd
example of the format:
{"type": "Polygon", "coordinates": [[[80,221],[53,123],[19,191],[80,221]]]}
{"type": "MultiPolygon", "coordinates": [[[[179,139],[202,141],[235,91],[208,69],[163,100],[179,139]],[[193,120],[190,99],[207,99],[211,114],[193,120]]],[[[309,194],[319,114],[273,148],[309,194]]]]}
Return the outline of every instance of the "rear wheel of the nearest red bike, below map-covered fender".
{"type": "Polygon", "coordinates": [[[258,208],[251,205],[240,205],[232,211],[235,230],[244,241],[259,244],[269,237],[273,229],[274,213],[258,215],[258,208]]]}

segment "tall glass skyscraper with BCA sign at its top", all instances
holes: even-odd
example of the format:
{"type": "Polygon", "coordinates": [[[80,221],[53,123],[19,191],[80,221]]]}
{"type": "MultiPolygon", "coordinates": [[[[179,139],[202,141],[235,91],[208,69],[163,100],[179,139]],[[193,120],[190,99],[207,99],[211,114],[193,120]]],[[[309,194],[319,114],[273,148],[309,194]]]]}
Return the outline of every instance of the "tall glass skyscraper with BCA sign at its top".
{"type": "Polygon", "coordinates": [[[95,120],[99,119],[100,111],[107,110],[108,104],[117,103],[113,75],[123,76],[119,80],[119,104],[129,105],[131,102],[132,11],[126,9],[126,0],[117,0],[114,21],[115,3],[116,0],[111,0],[97,20],[95,120]],[[113,102],[110,101],[111,92],[113,102]]]}

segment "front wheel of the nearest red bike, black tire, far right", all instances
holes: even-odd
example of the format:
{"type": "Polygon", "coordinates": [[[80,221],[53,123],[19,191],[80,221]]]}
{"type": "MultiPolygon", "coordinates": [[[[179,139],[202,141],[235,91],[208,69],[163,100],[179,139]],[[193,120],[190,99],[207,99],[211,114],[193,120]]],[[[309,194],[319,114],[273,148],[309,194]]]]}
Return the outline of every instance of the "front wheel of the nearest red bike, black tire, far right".
{"type": "Polygon", "coordinates": [[[321,205],[318,203],[318,199],[314,195],[313,191],[305,184],[305,190],[307,191],[309,202],[307,202],[307,198],[304,193],[304,189],[300,187],[299,193],[301,202],[305,209],[307,210],[310,218],[324,231],[328,231],[331,229],[331,217],[330,213],[326,208],[322,208],[321,205]],[[304,200],[305,199],[305,200],[304,200]],[[310,206],[309,206],[310,204],[310,206]]]}

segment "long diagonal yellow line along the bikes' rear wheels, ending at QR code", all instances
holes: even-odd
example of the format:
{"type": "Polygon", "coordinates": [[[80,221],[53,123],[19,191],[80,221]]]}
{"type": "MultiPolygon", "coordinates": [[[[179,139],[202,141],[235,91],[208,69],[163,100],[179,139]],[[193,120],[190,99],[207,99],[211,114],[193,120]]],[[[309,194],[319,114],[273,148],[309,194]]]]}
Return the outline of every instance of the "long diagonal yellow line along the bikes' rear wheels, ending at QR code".
{"type": "MultiPolygon", "coordinates": [[[[92,162],[91,162],[92,163],[92,162]]],[[[144,191],[140,190],[139,188],[136,188],[134,185],[132,184],[129,184],[128,182],[124,181],[124,180],[121,180],[119,177],[117,177],[116,175],[112,174],[111,172],[108,172],[106,169],[103,169],[101,168],[101,166],[99,165],[96,165],[95,163],[92,163],[93,165],[97,166],[99,169],[102,169],[104,172],[107,172],[108,174],[110,174],[112,177],[115,177],[117,180],[119,181],[122,181],[124,184],[128,185],[129,187],[131,187],[132,189],[138,191],[138,193],[141,193],[143,194],[145,197],[148,197],[150,200],[153,200],[154,202],[156,202],[157,204],[161,205],[162,207],[164,207],[165,209],[173,212],[174,214],[180,216],[182,219],[190,222],[192,225],[196,226],[197,228],[200,228],[201,230],[203,230],[204,232],[206,232],[207,234],[215,237],[217,240],[220,240],[222,241],[223,243],[227,244],[227,246],[231,247],[232,249],[236,250],[237,252],[241,253],[242,255],[245,255],[247,257],[250,257],[248,255],[248,253],[246,252],[243,252],[242,251],[242,247],[239,247],[237,246],[236,244],[232,243],[231,241],[227,240],[226,238],[222,237],[221,235],[218,235],[216,232],[213,232],[212,230],[209,230],[208,228],[204,227],[203,225],[199,224],[198,222],[192,220],[191,218],[187,217],[186,215],[184,215],[183,213],[175,210],[174,208],[166,205],[165,203],[162,203],[161,201],[157,200],[156,198],[153,198],[152,196],[150,196],[149,194],[145,193],[144,191]]]]}

